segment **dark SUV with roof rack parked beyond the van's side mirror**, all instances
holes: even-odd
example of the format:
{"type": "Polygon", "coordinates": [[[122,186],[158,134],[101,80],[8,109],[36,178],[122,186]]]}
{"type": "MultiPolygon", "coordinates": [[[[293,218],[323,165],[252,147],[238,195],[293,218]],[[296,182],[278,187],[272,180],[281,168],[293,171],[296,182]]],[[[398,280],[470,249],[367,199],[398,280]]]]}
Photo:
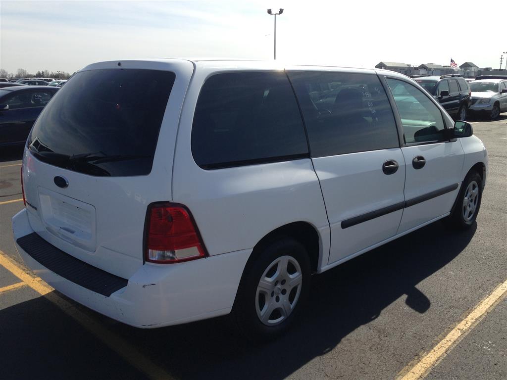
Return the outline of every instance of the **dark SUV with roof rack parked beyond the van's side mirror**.
{"type": "Polygon", "coordinates": [[[465,120],[470,105],[470,86],[456,74],[414,75],[415,81],[433,95],[456,120],[465,120]]]}

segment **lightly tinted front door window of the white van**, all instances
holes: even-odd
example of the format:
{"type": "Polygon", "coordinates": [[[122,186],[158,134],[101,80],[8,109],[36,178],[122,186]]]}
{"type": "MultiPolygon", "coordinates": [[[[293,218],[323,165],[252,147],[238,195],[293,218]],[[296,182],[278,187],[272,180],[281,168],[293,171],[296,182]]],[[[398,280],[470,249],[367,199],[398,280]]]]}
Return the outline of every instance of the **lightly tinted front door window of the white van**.
{"type": "Polygon", "coordinates": [[[388,78],[386,81],[402,118],[405,142],[445,141],[440,109],[415,86],[397,79],[388,78]]]}

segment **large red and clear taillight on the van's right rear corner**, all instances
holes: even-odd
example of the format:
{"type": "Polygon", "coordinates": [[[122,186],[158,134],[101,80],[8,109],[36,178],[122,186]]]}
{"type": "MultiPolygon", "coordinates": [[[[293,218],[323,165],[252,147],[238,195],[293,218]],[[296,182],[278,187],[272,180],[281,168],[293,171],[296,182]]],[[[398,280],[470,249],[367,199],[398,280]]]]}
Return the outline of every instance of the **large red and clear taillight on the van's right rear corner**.
{"type": "Polygon", "coordinates": [[[206,256],[190,212],[178,204],[153,204],[148,208],[144,258],[171,263],[206,256]]]}

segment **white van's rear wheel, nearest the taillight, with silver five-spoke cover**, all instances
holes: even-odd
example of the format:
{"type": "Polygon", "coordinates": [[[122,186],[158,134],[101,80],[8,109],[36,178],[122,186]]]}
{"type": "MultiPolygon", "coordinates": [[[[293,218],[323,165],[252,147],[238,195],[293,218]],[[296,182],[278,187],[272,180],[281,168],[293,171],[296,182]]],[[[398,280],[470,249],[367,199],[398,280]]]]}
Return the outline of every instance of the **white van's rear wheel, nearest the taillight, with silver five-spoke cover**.
{"type": "Polygon", "coordinates": [[[233,311],[239,330],[253,341],[277,338],[293,323],[308,296],[308,253],[298,241],[282,238],[264,248],[246,271],[233,311]]]}

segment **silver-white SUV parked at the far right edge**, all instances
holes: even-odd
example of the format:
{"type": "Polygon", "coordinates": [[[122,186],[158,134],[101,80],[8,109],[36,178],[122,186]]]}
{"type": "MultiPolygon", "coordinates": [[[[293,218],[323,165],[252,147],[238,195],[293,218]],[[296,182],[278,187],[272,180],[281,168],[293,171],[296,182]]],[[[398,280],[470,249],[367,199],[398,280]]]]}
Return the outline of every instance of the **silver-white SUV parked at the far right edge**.
{"type": "Polygon", "coordinates": [[[472,102],[469,113],[486,113],[490,119],[496,119],[501,112],[507,111],[507,76],[481,76],[470,82],[472,102]]]}

